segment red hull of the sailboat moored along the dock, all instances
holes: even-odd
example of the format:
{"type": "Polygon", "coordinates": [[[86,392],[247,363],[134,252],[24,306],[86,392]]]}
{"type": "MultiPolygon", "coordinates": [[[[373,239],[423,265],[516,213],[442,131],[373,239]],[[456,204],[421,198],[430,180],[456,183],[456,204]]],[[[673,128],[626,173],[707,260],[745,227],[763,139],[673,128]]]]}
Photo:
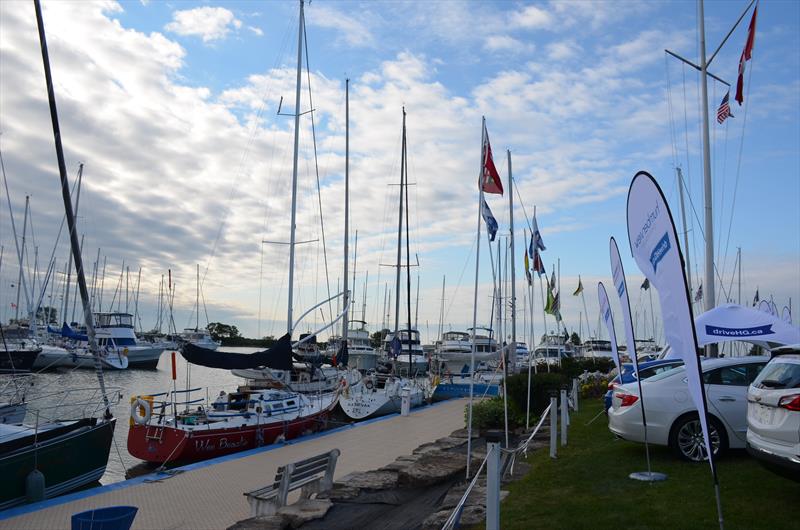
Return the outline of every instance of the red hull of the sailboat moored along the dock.
{"type": "Polygon", "coordinates": [[[147,462],[190,463],[255,449],[316,432],[327,424],[330,409],[319,413],[262,425],[188,431],[173,426],[132,425],[128,452],[147,462]]]}

